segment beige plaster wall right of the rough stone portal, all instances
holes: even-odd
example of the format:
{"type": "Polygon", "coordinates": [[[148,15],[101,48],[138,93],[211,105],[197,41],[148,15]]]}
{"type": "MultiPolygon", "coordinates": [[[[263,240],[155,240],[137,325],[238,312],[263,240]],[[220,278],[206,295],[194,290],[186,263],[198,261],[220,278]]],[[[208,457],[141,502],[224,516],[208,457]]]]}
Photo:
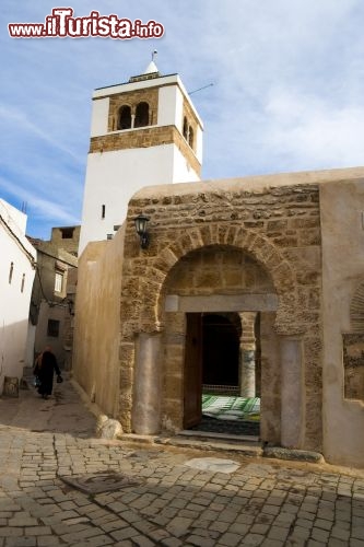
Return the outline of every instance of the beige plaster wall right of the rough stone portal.
{"type": "Polygon", "coordinates": [[[342,335],[364,279],[364,170],[356,181],[320,186],[322,226],[324,451],[329,462],[364,466],[364,393],[344,398],[342,335]]]}

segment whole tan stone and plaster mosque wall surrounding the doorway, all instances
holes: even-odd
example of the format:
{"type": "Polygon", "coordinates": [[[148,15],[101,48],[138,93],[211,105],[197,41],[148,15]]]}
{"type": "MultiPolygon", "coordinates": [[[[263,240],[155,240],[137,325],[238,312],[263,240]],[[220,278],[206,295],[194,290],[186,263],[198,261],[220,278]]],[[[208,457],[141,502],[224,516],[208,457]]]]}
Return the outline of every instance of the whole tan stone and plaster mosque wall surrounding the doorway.
{"type": "Polygon", "coordinates": [[[363,210],[363,168],[144,188],[81,259],[77,379],[125,431],[179,429],[187,313],[259,312],[261,439],[362,466],[363,210]]]}

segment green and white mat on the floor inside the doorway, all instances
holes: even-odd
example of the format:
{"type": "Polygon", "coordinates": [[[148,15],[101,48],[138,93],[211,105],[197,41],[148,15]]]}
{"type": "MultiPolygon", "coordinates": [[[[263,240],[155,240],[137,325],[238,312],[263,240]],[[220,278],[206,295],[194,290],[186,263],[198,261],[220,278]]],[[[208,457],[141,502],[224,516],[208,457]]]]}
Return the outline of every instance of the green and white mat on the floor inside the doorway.
{"type": "Polygon", "coordinates": [[[259,421],[260,398],[203,394],[202,415],[220,420],[259,421]]]}

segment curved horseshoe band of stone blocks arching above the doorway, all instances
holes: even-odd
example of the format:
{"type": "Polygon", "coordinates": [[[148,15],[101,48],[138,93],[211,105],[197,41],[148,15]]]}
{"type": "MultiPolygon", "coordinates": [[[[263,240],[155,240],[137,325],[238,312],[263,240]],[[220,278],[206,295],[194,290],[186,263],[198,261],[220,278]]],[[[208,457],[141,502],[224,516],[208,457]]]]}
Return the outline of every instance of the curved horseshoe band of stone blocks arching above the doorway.
{"type": "Polygon", "coordinates": [[[143,331],[150,333],[160,331],[163,328],[161,299],[164,298],[163,286],[166,276],[188,253],[211,245],[239,248],[257,259],[270,272],[279,295],[277,331],[286,335],[302,333],[302,325],[292,322],[298,296],[296,272],[290,261],[268,237],[239,225],[222,223],[184,231],[183,235],[162,248],[156,256],[144,260],[145,264],[141,264],[138,259],[138,268],[134,268],[132,259],[127,260],[122,271],[121,319],[126,319],[121,333],[122,339],[127,340],[130,336],[132,337],[132,333],[139,331],[140,327],[143,331]],[[134,276],[139,276],[139,271],[143,272],[143,280],[138,279],[136,283],[134,276]],[[138,294],[134,294],[136,284],[139,289],[138,294]],[[139,299],[130,302],[130,294],[139,299]],[[148,295],[148,300],[143,300],[142,295],[148,295]],[[138,325],[136,325],[136,315],[140,317],[138,325]]]}

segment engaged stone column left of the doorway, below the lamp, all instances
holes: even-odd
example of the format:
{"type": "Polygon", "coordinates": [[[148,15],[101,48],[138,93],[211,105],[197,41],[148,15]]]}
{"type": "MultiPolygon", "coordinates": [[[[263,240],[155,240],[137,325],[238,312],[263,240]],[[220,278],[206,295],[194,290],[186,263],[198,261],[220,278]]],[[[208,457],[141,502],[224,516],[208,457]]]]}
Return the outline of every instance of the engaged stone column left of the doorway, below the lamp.
{"type": "Polygon", "coordinates": [[[153,435],[161,430],[161,334],[141,333],[137,342],[132,431],[153,435]]]}

